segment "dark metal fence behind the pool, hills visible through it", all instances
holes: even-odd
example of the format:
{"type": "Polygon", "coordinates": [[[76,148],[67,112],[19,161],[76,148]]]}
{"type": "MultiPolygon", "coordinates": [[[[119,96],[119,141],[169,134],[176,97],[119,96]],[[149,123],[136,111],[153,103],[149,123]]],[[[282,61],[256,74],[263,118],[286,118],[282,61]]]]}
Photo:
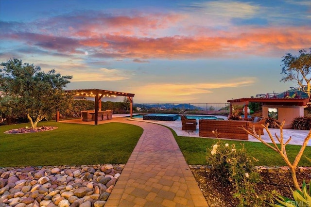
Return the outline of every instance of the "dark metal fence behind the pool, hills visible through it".
{"type": "Polygon", "coordinates": [[[135,112],[227,115],[229,103],[134,103],[135,112]]]}

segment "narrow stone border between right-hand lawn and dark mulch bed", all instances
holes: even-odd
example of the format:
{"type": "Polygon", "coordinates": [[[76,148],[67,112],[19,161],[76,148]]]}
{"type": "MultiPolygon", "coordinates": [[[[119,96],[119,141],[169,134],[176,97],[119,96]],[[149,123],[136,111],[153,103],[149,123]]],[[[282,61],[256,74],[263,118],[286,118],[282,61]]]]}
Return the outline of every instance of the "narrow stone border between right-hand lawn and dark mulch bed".
{"type": "MultiPolygon", "coordinates": [[[[210,172],[211,166],[209,165],[189,165],[190,169],[195,170],[204,170],[210,172]]],[[[256,166],[255,167],[259,172],[263,173],[288,173],[290,168],[288,166],[256,166]]],[[[311,167],[298,167],[298,173],[311,173],[311,167]]]]}

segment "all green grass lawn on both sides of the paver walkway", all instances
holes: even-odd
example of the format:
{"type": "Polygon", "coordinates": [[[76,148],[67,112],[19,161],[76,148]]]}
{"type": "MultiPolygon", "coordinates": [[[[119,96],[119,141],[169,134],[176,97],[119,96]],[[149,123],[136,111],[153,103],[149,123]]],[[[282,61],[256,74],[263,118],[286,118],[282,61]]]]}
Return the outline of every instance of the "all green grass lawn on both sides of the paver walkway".
{"type": "MultiPolygon", "coordinates": [[[[123,123],[95,126],[50,121],[39,122],[39,126],[58,128],[29,134],[3,133],[26,126],[29,127],[29,124],[0,127],[0,166],[125,164],[143,131],[138,126],[123,123]]],[[[206,164],[207,147],[211,148],[217,140],[180,137],[172,132],[188,164],[206,164]]],[[[237,147],[244,143],[249,155],[259,159],[256,165],[286,165],[276,152],[262,143],[224,142],[235,143],[237,147]]],[[[289,158],[293,160],[299,150],[300,146],[288,145],[289,158]]],[[[306,148],[304,156],[311,158],[311,147],[306,148]]],[[[304,156],[299,166],[311,166],[304,156]]]]}

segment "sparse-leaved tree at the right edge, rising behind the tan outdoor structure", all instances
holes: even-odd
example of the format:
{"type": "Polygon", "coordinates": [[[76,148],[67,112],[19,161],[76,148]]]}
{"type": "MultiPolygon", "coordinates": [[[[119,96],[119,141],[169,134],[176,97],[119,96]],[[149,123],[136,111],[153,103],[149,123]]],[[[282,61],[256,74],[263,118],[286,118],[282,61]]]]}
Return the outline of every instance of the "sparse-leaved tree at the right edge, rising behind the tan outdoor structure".
{"type": "Polygon", "coordinates": [[[299,50],[299,55],[288,53],[282,57],[282,73],[284,77],[280,81],[296,82],[302,91],[307,92],[310,98],[310,82],[311,82],[311,48],[310,53],[306,50],[299,50]]]}

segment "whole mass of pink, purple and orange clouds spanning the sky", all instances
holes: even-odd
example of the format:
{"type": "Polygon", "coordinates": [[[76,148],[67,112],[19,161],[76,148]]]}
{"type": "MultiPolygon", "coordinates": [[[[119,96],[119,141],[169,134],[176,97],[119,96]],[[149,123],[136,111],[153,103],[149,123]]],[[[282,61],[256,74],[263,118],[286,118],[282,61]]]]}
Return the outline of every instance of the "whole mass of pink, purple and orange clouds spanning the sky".
{"type": "Polygon", "coordinates": [[[5,24],[1,38],[42,50],[90,56],[130,59],[192,59],[236,55],[279,56],[288,50],[309,48],[311,27],[233,27],[230,31],[179,25],[185,16],[138,14],[137,16],[58,16],[28,25],[5,24]],[[40,26],[40,27],[39,27],[40,26]],[[171,27],[176,27],[170,30],[171,27]],[[167,30],[170,30],[168,35],[167,30]],[[161,34],[163,33],[163,34],[161,34]],[[178,33],[178,35],[176,35],[178,33]],[[166,35],[164,35],[166,34],[166,35]],[[82,52],[83,51],[83,52],[82,52]]]}

